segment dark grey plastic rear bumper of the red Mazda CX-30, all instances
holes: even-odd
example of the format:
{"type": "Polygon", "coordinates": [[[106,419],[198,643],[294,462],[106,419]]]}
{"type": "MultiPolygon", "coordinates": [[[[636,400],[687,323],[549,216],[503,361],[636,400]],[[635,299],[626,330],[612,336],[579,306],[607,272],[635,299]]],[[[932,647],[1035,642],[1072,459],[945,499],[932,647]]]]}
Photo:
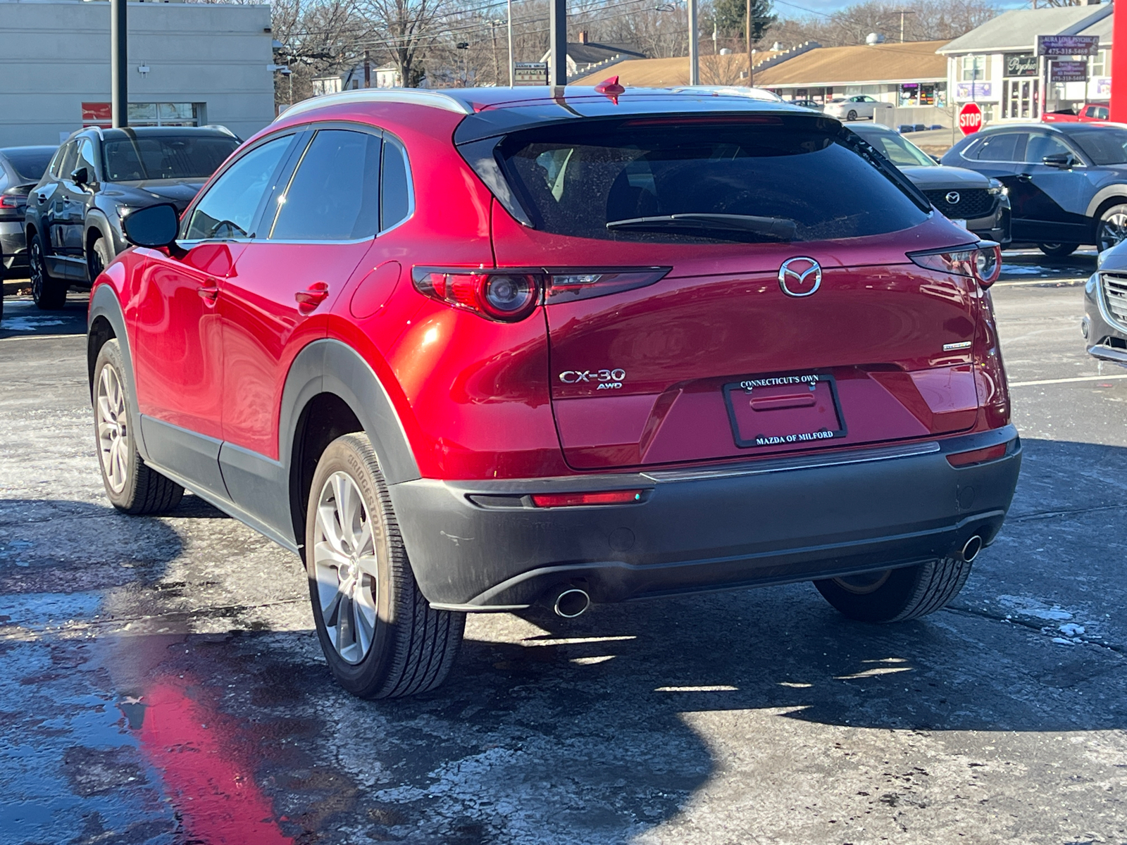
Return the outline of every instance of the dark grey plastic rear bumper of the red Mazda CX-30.
{"type": "Polygon", "coordinates": [[[561,584],[582,586],[595,602],[622,602],[932,560],[974,534],[993,541],[1020,464],[1018,433],[1006,426],[694,470],[420,479],[392,486],[391,498],[433,606],[515,610],[561,584]],[[947,462],[951,452],[999,443],[1011,445],[996,461],[962,469],[947,462]],[[612,489],[646,492],[637,504],[603,507],[533,508],[521,498],[612,489]]]}

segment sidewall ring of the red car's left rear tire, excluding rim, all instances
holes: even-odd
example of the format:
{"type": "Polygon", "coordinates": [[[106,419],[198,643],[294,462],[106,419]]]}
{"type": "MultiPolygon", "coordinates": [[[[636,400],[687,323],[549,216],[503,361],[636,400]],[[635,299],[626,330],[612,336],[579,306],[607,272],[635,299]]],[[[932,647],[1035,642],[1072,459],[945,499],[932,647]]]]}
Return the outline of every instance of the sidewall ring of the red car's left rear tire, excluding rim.
{"type": "MultiPolygon", "coordinates": [[[[361,435],[362,436],[362,435],[361,435]]],[[[369,465],[364,455],[349,443],[350,438],[341,438],[329,444],[317,464],[313,482],[309,488],[309,506],[305,508],[305,573],[309,578],[309,595],[313,606],[313,620],[317,623],[317,637],[321,641],[325,659],[329,669],[340,685],[354,695],[372,695],[382,686],[390,669],[396,651],[397,597],[393,595],[390,559],[392,554],[389,543],[384,507],[390,508],[387,492],[382,490],[374,473],[379,468],[369,465]],[[321,602],[317,592],[317,570],[313,564],[313,545],[317,531],[317,502],[321,488],[334,472],[345,472],[356,483],[364,498],[369,519],[372,523],[372,539],[376,559],[376,620],[372,635],[372,647],[358,664],[344,660],[332,646],[325,619],[321,614],[321,602]],[[381,495],[382,493],[382,495],[381,495]]],[[[398,541],[398,537],[394,539],[398,541]]],[[[406,563],[406,560],[403,561],[406,563]]]]}

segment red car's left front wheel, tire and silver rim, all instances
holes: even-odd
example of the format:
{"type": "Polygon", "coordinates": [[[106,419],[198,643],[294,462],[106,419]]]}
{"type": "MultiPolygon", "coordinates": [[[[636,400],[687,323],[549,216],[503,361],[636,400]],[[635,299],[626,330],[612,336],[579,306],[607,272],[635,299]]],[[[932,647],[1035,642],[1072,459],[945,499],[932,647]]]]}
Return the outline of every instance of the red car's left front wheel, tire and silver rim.
{"type": "Polygon", "coordinates": [[[136,450],[136,411],[125,382],[122,349],[107,340],[94,364],[94,437],[106,496],[126,514],[163,514],[180,504],[184,488],[149,466],[136,450]],[[105,401],[104,401],[105,400],[105,401]]]}

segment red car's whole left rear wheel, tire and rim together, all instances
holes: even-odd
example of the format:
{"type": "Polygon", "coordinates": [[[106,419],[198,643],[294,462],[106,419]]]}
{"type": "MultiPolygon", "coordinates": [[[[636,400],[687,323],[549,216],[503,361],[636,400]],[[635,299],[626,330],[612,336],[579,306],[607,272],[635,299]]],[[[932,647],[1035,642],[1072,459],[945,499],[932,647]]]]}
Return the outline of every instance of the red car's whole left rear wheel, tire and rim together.
{"type": "Polygon", "coordinates": [[[338,437],[318,461],[304,558],[317,637],[345,690],[390,699],[442,684],[465,614],[432,610],[419,592],[366,435],[338,437]]]}

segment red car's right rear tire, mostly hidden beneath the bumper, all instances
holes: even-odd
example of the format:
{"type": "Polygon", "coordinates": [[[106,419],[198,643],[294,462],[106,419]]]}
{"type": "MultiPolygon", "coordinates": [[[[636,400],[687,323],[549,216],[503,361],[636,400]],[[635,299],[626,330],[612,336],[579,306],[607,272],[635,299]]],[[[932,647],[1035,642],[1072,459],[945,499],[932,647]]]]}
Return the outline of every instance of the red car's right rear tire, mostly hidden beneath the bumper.
{"type": "Polygon", "coordinates": [[[902,569],[815,581],[829,604],[860,622],[904,622],[925,616],[959,595],[970,563],[943,558],[902,569]]]}

